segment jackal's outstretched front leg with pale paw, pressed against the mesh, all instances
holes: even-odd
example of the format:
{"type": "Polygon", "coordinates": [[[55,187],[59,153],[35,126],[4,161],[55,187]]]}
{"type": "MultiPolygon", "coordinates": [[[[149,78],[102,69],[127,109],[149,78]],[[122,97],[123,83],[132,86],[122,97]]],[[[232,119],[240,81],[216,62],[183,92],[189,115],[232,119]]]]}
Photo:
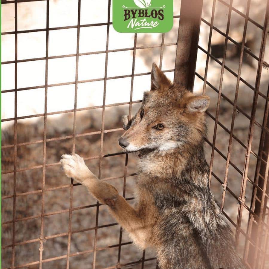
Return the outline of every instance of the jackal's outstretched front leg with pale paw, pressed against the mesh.
{"type": "Polygon", "coordinates": [[[117,189],[99,180],[85,165],[79,155],[62,155],[60,160],[65,175],[85,185],[90,193],[102,204],[107,204],[114,218],[131,234],[132,239],[141,247],[145,246],[146,229],[137,211],[119,195],[117,189]]]}

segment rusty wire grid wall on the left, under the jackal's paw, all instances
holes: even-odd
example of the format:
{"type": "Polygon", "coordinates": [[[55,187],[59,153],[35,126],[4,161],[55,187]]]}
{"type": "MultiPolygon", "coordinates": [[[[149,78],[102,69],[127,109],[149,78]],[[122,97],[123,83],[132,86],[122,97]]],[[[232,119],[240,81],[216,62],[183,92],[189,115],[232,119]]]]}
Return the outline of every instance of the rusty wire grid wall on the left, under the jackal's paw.
{"type": "MultiPolygon", "coordinates": [[[[42,264],[44,264],[46,262],[51,262],[51,261],[54,261],[54,260],[59,260],[59,259],[66,259],[66,261],[67,261],[66,262],[66,268],[69,268],[69,258],[70,257],[79,256],[79,255],[83,255],[83,254],[86,254],[86,253],[93,253],[94,260],[93,260],[92,268],[95,268],[97,251],[105,250],[105,249],[109,249],[109,248],[118,248],[118,261],[117,261],[117,264],[115,266],[108,267],[106,269],[116,268],[116,267],[118,268],[118,267],[121,266],[121,264],[120,264],[121,246],[131,244],[132,242],[125,242],[125,243],[122,242],[122,232],[123,232],[123,230],[122,230],[122,228],[120,228],[119,244],[111,245],[111,246],[107,246],[107,247],[97,247],[97,232],[98,232],[98,229],[104,228],[104,227],[112,227],[112,226],[115,226],[115,225],[118,225],[118,224],[117,223],[110,223],[110,224],[107,224],[107,225],[98,225],[99,207],[103,206],[98,201],[97,201],[96,204],[90,204],[90,205],[81,206],[81,207],[73,207],[73,205],[72,205],[73,188],[80,185],[80,184],[74,184],[73,179],[71,179],[71,183],[67,184],[67,185],[63,185],[63,186],[59,186],[59,187],[53,187],[53,188],[46,188],[45,187],[45,185],[46,185],[45,184],[46,168],[50,167],[50,166],[59,166],[59,163],[51,163],[51,164],[46,163],[46,146],[47,146],[47,143],[51,142],[51,141],[59,141],[60,142],[62,140],[66,140],[66,139],[72,139],[72,141],[73,141],[73,143],[72,143],[72,153],[74,153],[75,152],[75,139],[77,137],[100,135],[100,137],[101,137],[100,154],[97,155],[97,156],[91,156],[91,157],[84,158],[84,159],[85,160],[94,160],[94,159],[99,159],[100,160],[100,162],[99,162],[99,178],[101,179],[102,178],[102,160],[103,160],[103,158],[125,154],[123,152],[114,152],[114,153],[105,154],[105,155],[103,154],[103,137],[104,137],[104,134],[107,134],[107,133],[110,133],[110,132],[117,132],[117,131],[122,130],[121,128],[109,129],[109,130],[106,130],[104,128],[104,123],[105,123],[105,113],[104,112],[105,112],[105,109],[108,108],[108,107],[114,107],[114,106],[120,106],[120,105],[129,105],[129,115],[131,115],[131,113],[132,113],[132,104],[142,102],[142,100],[135,100],[135,101],[132,100],[134,77],[150,74],[150,72],[135,74],[135,55],[136,55],[136,50],[146,49],[146,48],[160,48],[160,68],[161,68],[162,67],[164,47],[175,46],[175,45],[177,45],[177,43],[165,43],[165,41],[164,41],[165,34],[162,34],[162,40],[161,40],[160,45],[137,46],[137,34],[134,34],[134,46],[132,48],[109,50],[108,49],[109,28],[110,28],[110,26],[112,24],[110,22],[111,0],[108,1],[107,22],[97,23],[97,24],[80,25],[80,2],[81,2],[81,0],[78,0],[78,21],[77,21],[77,25],[67,26],[67,27],[54,27],[54,28],[49,27],[49,1],[50,0],[46,0],[46,3],[47,3],[47,5],[46,5],[46,9],[47,9],[46,10],[46,28],[18,31],[18,27],[17,27],[17,24],[18,24],[18,22],[17,22],[18,21],[18,19],[17,19],[17,5],[18,5],[18,3],[21,3],[21,2],[34,2],[34,1],[41,1],[41,0],[14,0],[14,1],[7,1],[7,2],[2,1],[2,4],[14,4],[14,6],[15,6],[15,31],[2,33],[2,35],[15,34],[15,59],[13,61],[7,61],[7,62],[2,62],[1,63],[2,65],[10,64],[10,63],[15,64],[15,78],[14,78],[15,79],[15,88],[11,89],[11,90],[3,90],[3,91],[1,91],[1,93],[14,92],[14,94],[15,94],[15,114],[14,114],[14,117],[2,120],[2,122],[14,121],[14,127],[15,127],[14,143],[10,144],[10,145],[2,146],[2,149],[13,148],[13,151],[14,151],[14,169],[12,171],[2,171],[3,175],[4,174],[13,174],[14,175],[13,195],[7,195],[7,196],[2,197],[2,200],[13,198],[13,219],[11,221],[4,221],[3,220],[3,222],[2,222],[2,225],[12,224],[12,226],[13,226],[13,240],[12,240],[12,244],[3,244],[2,249],[6,249],[6,248],[11,248],[12,249],[12,257],[11,257],[11,264],[10,264],[11,267],[10,268],[13,269],[13,268],[22,268],[22,267],[30,266],[30,265],[39,265],[39,268],[41,269],[42,264]],[[94,51],[94,52],[88,52],[88,53],[79,53],[80,28],[81,27],[95,27],[95,26],[102,26],[102,25],[107,26],[106,50],[105,51],[94,51]],[[49,31],[71,29],[71,28],[77,28],[77,51],[76,51],[76,54],[48,56],[49,31]],[[39,31],[45,31],[46,32],[46,55],[45,55],[45,57],[18,60],[18,57],[17,57],[17,47],[18,47],[18,45],[17,45],[17,35],[19,33],[31,33],[31,32],[39,32],[39,31]],[[133,51],[132,74],[124,75],[124,76],[108,77],[107,76],[108,53],[120,52],[120,51],[133,51]],[[106,54],[104,77],[98,78],[98,79],[92,79],[92,80],[79,81],[78,80],[79,56],[91,55],[91,54],[106,54]],[[49,59],[56,59],[56,58],[64,58],[64,57],[76,57],[76,76],[75,76],[75,81],[71,81],[71,82],[67,82],[67,83],[48,84],[48,60],[49,59]],[[46,64],[45,64],[45,85],[36,85],[36,86],[31,86],[31,87],[18,88],[17,87],[17,64],[19,62],[31,62],[31,61],[38,61],[38,60],[45,60],[45,62],[46,62],[46,64]],[[130,101],[125,102],[125,103],[115,103],[115,104],[111,104],[111,105],[106,105],[105,104],[106,81],[107,80],[112,80],[112,79],[126,78],[126,77],[131,77],[130,101]],[[84,82],[94,82],[94,81],[104,81],[103,105],[102,106],[91,106],[91,107],[85,107],[85,108],[79,108],[78,109],[77,108],[77,86],[78,86],[78,84],[84,83],[84,82]],[[54,86],[72,85],[72,84],[75,85],[74,109],[48,113],[47,112],[47,92],[48,92],[48,88],[49,87],[54,87],[54,86]],[[17,92],[18,91],[24,91],[24,90],[30,90],[30,89],[39,89],[39,88],[45,88],[44,113],[42,113],[42,114],[34,114],[34,115],[29,115],[29,116],[24,116],[24,117],[18,117],[17,116],[17,92]],[[97,108],[102,108],[102,127],[101,127],[101,130],[96,131],[96,132],[88,132],[88,133],[76,134],[76,112],[77,111],[92,110],[92,109],[97,109],[97,108]],[[68,136],[64,136],[64,137],[53,137],[53,138],[48,139],[47,138],[47,116],[55,115],[55,114],[65,114],[65,113],[69,113],[69,112],[74,112],[73,134],[68,135],[68,136]],[[44,117],[44,136],[43,136],[43,139],[42,140],[36,140],[36,141],[30,141],[30,142],[26,142],[26,143],[17,143],[17,121],[21,120],[21,119],[27,119],[27,118],[33,118],[33,117],[42,117],[42,116],[44,117]],[[33,144],[40,144],[40,143],[43,143],[43,163],[41,165],[37,165],[37,166],[31,166],[31,167],[26,167],[26,168],[23,168],[23,169],[18,169],[17,168],[17,158],[16,158],[16,153],[17,153],[18,147],[27,146],[27,145],[33,145],[33,144]],[[42,188],[41,189],[35,190],[35,191],[30,191],[30,192],[24,192],[24,193],[19,193],[18,191],[16,191],[16,173],[17,172],[22,172],[22,171],[27,171],[27,170],[32,170],[32,169],[41,169],[41,168],[42,168],[42,188]],[[50,192],[50,191],[53,191],[53,190],[59,190],[59,189],[68,189],[68,188],[70,189],[70,205],[69,205],[69,209],[45,213],[45,195],[46,195],[46,192],[50,192]],[[26,196],[26,195],[33,195],[33,194],[38,194],[38,193],[42,194],[41,214],[32,215],[32,216],[28,216],[28,217],[24,217],[24,218],[16,218],[16,215],[15,215],[15,213],[16,213],[16,197],[26,196]],[[71,227],[72,212],[77,211],[77,210],[86,209],[86,208],[93,208],[93,207],[96,208],[96,210],[97,210],[95,227],[88,227],[86,229],[81,229],[81,230],[72,230],[72,227],[71,227]],[[54,234],[52,236],[46,236],[44,234],[44,217],[50,216],[50,215],[62,214],[62,213],[69,213],[68,232],[60,233],[60,234],[54,234]],[[15,224],[20,222],[20,221],[27,221],[27,220],[31,220],[31,219],[37,219],[37,218],[40,218],[40,220],[41,220],[41,230],[40,230],[39,238],[26,240],[26,241],[22,241],[22,242],[16,242],[15,224]],[[70,248],[70,246],[71,246],[71,235],[75,234],[75,233],[81,233],[81,232],[85,232],[85,231],[90,231],[90,230],[95,231],[95,239],[94,239],[94,247],[93,247],[93,249],[85,250],[85,251],[82,251],[82,252],[71,253],[71,248],[70,248]],[[68,245],[67,245],[68,248],[67,248],[66,255],[62,255],[62,256],[59,256],[59,257],[53,257],[53,258],[49,258],[49,259],[43,259],[43,250],[45,248],[45,244],[44,244],[45,240],[53,239],[53,238],[57,238],[57,237],[62,237],[62,236],[67,236],[68,237],[68,245]],[[15,247],[16,246],[22,246],[22,245],[25,245],[25,244],[34,243],[34,242],[39,242],[39,261],[34,261],[34,262],[27,263],[27,264],[16,265],[16,263],[15,263],[15,261],[16,261],[16,259],[15,259],[15,247]]],[[[179,16],[174,16],[174,18],[179,18],[179,16]]],[[[163,70],[163,71],[164,72],[173,72],[174,69],[163,70]]],[[[105,180],[105,181],[118,179],[118,178],[123,179],[123,196],[124,197],[125,197],[125,192],[126,192],[126,180],[127,180],[128,177],[131,177],[131,176],[135,175],[135,174],[128,173],[127,164],[128,164],[128,154],[126,154],[126,162],[125,162],[125,169],[124,169],[124,174],[123,175],[118,175],[118,176],[109,177],[109,178],[102,178],[102,180],[105,180]]],[[[132,197],[126,198],[127,201],[132,200],[132,199],[134,199],[134,198],[132,198],[132,197]]],[[[145,262],[150,261],[150,260],[154,260],[154,259],[155,258],[146,259],[145,258],[145,252],[143,252],[143,255],[142,255],[140,260],[129,262],[126,265],[135,265],[135,264],[140,263],[141,267],[143,268],[145,262]]]]}

